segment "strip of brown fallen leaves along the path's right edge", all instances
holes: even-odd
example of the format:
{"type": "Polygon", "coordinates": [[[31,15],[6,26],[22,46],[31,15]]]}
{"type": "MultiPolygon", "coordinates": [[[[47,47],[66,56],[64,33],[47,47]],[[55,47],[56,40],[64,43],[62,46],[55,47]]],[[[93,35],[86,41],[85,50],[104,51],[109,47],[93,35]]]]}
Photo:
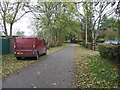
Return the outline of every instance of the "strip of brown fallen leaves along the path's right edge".
{"type": "MultiPolygon", "coordinates": [[[[92,86],[91,73],[88,69],[88,59],[85,57],[87,55],[98,54],[96,51],[81,49],[76,47],[77,55],[75,57],[75,68],[76,68],[76,88],[90,88],[92,86]]],[[[95,78],[94,78],[95,79],[95,78]]]]}

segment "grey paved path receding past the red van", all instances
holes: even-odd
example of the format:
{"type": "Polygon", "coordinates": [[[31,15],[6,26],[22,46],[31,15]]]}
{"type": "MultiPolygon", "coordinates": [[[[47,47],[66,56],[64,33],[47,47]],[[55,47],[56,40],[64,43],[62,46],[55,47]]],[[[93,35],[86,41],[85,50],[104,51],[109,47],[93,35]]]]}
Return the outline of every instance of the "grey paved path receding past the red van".
{"type": "Polygon", "coordinates": [[[75,45],[41,56],[39,60],[19,73],[3,80],[3,88],[72,88],[75,45]]]}

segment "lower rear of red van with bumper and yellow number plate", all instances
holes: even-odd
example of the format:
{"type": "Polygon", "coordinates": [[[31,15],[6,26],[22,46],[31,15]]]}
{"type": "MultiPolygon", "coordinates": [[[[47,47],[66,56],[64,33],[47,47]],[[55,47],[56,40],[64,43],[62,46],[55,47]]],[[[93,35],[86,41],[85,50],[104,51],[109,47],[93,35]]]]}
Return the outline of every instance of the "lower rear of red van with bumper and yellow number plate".
{"type": "Polygon", "coordinates": [[[14,52],[15,57],[36,57],[37,56],[37,51],[36,50],[31,50],[31,51],[15,51],[14,52]],[[21,53],[21,54],[18,54],[21,53]]]}

